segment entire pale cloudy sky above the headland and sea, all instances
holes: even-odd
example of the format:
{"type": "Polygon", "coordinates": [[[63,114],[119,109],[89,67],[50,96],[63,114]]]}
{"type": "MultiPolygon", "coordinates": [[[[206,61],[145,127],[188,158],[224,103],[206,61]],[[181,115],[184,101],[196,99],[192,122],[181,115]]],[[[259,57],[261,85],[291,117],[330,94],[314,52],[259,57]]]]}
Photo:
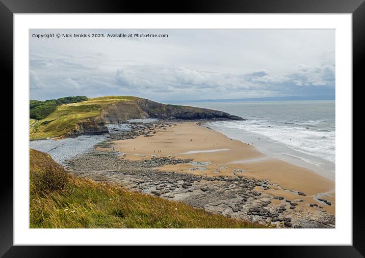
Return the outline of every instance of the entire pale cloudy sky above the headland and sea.
{"type": "Polygon", "coordinates": [[[335,95],[334,30],[30,30],[30,98],[335,95]],[[36,38],[34,34],[103,34],[36,38]],[[166,38],[107,38],[167,34],[166,38]]]}

